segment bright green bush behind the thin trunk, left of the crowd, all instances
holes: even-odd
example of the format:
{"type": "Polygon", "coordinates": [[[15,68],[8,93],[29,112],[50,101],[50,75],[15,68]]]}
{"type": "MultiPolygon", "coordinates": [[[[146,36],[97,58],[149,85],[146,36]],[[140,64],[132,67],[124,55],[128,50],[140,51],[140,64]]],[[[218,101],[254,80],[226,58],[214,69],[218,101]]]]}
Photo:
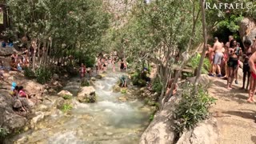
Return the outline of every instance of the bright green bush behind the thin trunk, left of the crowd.
{"type": "MultiPolygon", "coordinates": [[[[188,66],[192,67],[193,70],[196,70],[199,66],[201,55],[196,54],[193,58],[190,59],[190,62],[188,63],[188,66]]],[[[210,70],[210,61],[208,58],[204,58],[203,65],[202,65],[202,74],[208,74],[210,70]]],[[[193,74],[192,74],[193,76],[193,74]]]]}

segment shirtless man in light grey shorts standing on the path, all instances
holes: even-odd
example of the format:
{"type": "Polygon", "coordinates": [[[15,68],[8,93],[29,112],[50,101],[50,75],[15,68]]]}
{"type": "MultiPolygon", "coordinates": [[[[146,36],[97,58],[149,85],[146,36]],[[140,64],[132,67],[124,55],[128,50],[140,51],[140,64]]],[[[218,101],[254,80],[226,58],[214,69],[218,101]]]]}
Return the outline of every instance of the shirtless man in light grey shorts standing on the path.
{"type": "Polygon", "coordinates": [[[218,42],[218,38],[214,38],[214,65],[213,65],[213,74],[216,72],[217,69],[217,76],[222,77],[221,74],[221,67],[220,65],[222,64],[222,58],[223,58],[223,53],[222,53],[222,43],[218,42]]]}

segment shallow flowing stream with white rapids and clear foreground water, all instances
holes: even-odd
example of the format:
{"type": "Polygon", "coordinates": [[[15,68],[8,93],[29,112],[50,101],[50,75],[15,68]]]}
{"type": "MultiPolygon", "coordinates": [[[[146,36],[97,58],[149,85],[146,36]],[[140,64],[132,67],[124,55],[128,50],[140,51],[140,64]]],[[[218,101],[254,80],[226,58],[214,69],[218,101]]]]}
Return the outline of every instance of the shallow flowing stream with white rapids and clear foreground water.
{"type": "MultiPolygon", "coordinates": [[[[149,125],[151,110],[138,99],[118,101],[123,94],[114,93],[112,87],[120,75],[106,74],[95,82],[97,102],[80,103],[73,98],[69,113],[57,110],[38,122],[37,129],[19,134],[14,141],[20,143],[18,139],[23,138],[25,143],[137,144],[149,125]]],[[[78,80],[71,79],[63,90],[77,94],[78,80]]]]}

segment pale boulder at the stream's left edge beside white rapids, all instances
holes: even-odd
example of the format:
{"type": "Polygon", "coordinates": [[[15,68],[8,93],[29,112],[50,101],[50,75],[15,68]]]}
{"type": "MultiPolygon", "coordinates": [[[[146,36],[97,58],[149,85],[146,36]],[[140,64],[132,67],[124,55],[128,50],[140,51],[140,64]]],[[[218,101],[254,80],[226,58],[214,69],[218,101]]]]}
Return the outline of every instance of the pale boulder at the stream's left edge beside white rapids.
{"type": "Polygon", "coordinates": [[[79,102],[96,102],[96,94],[93,86],[82,87],[78,93],[79,102]]]}

